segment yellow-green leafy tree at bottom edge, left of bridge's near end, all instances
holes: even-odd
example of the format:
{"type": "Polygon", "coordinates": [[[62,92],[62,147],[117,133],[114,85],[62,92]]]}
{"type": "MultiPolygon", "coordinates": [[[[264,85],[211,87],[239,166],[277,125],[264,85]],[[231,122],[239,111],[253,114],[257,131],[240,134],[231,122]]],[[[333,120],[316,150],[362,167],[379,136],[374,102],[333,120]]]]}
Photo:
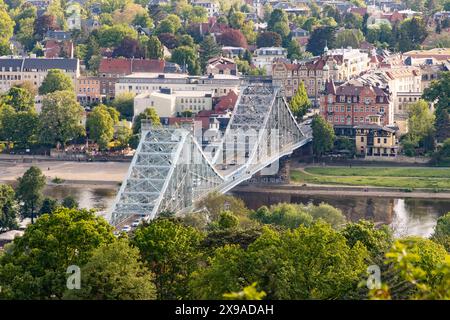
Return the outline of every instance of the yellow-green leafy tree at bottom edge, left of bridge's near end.
{"type": "Polygon", "coordinates": [[[107,243],[92,251],[81,268],[81,289],[67,290],[65,299],[155,299],[153,274],[140,262],[139,250],[126,239],[107,243]]]}

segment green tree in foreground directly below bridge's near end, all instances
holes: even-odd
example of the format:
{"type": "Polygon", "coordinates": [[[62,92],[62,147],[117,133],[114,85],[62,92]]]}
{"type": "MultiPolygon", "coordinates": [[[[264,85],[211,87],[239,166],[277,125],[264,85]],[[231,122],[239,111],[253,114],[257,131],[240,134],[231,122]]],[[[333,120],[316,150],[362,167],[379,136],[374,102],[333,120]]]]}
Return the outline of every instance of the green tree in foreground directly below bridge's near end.
{"type": "Polygon", "coordinates": [[[155,274],[158,299],[187,299],[190,274],[197,269],[203,235],[169,219],[138,228],[133,244],[155,274]]]}

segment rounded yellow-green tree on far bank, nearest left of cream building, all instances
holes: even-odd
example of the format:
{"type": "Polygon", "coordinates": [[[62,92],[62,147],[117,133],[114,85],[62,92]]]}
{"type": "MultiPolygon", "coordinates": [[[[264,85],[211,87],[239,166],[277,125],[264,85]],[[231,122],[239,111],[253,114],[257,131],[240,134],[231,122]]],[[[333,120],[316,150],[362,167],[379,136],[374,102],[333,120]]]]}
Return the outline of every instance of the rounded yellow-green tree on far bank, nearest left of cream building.
{"type": "Polygon", "coordinates": [[[114,137],[114,120],[107,107],[100,105],[89,114],[86,123],[89,137],[96,141],[100,149],[107,149],[114,137]]]}

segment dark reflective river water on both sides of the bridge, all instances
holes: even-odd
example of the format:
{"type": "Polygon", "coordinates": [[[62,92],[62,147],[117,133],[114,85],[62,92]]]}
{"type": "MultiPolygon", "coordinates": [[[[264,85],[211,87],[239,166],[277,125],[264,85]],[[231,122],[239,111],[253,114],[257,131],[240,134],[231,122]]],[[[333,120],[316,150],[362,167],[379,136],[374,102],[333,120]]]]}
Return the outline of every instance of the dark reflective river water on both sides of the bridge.
{"type": "MultiPolygon", "coordinates": [[[[63,199],[72,195],[80,207],[97,209],[99,214],[108,218],[114,203],[118,187],[113,186],[47,186],[45,195],[63,199]]],[[[278,202],[289,203],[329,203],[339,208],[351,221],[360,219],[390,225],[396,236],[417,235],[428,237],[433,233],[439,216],[450,212],[450,200],[446,199],[394,199],[382,197],[346,197],[346,196],[303,196],[267,193],[231,193],[244,200],[250,209],[278,202]]]]}

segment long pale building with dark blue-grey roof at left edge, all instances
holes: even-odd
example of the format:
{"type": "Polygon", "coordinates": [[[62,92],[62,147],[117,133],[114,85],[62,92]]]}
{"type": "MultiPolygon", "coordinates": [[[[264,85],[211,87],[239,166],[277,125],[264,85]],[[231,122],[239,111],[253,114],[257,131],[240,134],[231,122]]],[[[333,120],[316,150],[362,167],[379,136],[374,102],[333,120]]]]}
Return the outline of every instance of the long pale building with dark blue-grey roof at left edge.
{"type": "Polygon", "coordinates": [[[11,86],[23,81],[29,81],[39,88],[50,69],[62,70],[76,87],[80,75],[78,59],[0,57],[0,92],[6,92],[11,86]]]}

